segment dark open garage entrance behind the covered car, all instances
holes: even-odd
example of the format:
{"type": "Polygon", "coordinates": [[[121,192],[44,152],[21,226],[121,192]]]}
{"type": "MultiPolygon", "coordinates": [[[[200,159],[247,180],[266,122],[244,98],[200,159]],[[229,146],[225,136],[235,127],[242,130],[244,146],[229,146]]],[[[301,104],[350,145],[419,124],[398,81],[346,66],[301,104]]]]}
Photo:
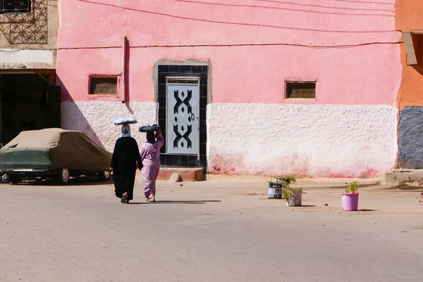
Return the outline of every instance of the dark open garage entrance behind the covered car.
{"type": "Polygon", "coordinates": [[[61,91],[52,83],[54,71],[49,72],[0,73],[0,143],[8,143],[23,130],[60,127],[61,91]]]}

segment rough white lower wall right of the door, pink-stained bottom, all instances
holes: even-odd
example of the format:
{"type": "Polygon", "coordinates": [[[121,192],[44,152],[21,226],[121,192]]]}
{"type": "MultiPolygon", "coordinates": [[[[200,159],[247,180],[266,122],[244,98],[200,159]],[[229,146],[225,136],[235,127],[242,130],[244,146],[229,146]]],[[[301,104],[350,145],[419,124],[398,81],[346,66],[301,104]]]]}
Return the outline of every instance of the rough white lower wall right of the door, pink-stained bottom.
{"type": "Polygon", "coordinates": [[[208,169],[225,174],[378,177],[395,165],[396,107],[207,107],[208,169]]]}

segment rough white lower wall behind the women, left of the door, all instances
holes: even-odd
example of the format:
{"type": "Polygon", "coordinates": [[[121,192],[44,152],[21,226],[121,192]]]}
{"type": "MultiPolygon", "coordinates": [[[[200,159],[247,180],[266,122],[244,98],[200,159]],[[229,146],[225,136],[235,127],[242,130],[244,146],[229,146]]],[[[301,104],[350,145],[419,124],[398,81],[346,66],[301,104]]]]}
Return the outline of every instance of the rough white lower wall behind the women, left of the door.
{"type": "Polygon", "coordinates": [[[121,126],[113,124],[116,117],[134,116],[138,123],[131,125],[131,134],[141,146],[145,134],[138,132],[138,127],[157,122],[157,103],[119,102],[63,102],[61,105],[61,126],[85,132],[93,141],[106,150],[113,151],[116,139],[121,136],[121,126]]]}

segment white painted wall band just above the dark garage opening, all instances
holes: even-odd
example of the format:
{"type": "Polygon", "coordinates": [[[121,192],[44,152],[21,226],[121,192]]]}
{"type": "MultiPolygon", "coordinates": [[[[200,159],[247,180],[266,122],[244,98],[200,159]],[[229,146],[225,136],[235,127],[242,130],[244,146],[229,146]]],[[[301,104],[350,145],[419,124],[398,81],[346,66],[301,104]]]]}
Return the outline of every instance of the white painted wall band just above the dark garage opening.
{"type": "Polygon", "coordinates": [[[55,68],[55,51],[0,49],[0,68],[55,68]]]}

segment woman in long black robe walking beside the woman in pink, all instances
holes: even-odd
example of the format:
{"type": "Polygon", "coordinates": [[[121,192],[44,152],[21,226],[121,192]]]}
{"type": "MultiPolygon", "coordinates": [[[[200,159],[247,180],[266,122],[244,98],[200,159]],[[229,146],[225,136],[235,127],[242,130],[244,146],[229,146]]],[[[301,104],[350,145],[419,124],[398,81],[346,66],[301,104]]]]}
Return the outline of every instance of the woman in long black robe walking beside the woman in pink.
{"type": "Polygon", "coordinates": [[[123,124],[122,136],[116,141],[111,157],[115,195],[121,203],[128,204],[133,199],[135,173],[142,169],[140,150],[135,139],[130,136],[129,124],[123,124]]]}

